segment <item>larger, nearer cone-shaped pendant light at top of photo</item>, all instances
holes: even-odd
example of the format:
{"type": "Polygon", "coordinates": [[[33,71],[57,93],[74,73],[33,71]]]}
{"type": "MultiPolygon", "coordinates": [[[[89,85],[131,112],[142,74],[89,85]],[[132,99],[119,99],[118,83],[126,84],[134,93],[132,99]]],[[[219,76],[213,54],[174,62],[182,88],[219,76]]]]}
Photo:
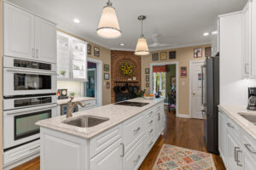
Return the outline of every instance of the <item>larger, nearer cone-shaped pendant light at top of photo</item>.
{"type": "Polygon", "coordinates": [[[100,37],[108,39],[120,37],[122,34],[115,8],[109,0],[107,6],[102,9],[102,17],[96,32],[100,37]]]}

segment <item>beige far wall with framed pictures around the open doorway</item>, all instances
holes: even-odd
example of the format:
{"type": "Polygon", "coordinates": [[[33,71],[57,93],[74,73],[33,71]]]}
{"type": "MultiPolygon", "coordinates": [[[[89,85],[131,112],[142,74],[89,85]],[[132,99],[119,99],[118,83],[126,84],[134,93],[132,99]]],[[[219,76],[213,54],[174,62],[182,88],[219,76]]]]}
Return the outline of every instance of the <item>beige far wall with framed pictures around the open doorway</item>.
{"type": "MultiPolygon", "coordinates": [[[[146,76],[145,68],[150,68],[150,63],[164,63],[171,61],[178,61],[178,112],[179,114],[189,115],[189,61],[195,60],[194,58],[194,48],[203,48],[203,57],[199,59],[205,59],[205,48],[211,45],[202,45],[187,48],[174,48],[168,50],[155,51],[151,54],[159,52],[159,60],[152,61],[151,54],[142,57],[142,88],[147,89],[147,93],[150,92],[150,88],[146,88],[146,76]],[[169,55],[169,51],[176,51],[176,59],[167,59],[165,61],[160,60],[160,52],[166,51],[169,55]],[[188,71],[188,76],[185,78],[180,77],[180,67],[186,66],[188,71]],[[182,82],[184,85],[182,85],[182,82]]],[[[169,56],[168,56],[169,57],[169,56]]],[[[151,80],[150,80],[151,81],[151,80]]]]}

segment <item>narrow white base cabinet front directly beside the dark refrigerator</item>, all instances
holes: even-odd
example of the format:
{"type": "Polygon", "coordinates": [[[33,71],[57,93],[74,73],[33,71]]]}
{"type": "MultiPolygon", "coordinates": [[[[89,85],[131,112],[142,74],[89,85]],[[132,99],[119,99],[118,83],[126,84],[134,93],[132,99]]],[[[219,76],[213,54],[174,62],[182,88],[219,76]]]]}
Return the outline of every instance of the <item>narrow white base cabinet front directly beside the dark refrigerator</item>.
{"type": "Polygon", "coordinates": [[[224,159],[226,156],[226,128],[225,128],[225,115],[221,112],[218,112],[218,150],[220,156],[224,159]]]}

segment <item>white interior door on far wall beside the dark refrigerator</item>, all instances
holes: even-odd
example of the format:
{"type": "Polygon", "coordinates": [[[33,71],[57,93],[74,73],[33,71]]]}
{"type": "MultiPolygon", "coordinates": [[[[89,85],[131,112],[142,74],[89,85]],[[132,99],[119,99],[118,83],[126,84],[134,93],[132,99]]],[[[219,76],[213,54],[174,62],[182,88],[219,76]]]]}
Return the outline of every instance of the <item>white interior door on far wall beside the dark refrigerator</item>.
{"type": "Polygon", "coordinates": [[[202,119],[201,113],[201,101],[202,101],[202,79],[201,65],[204,65],[204,61],[194,61],[190,64],[190,78],[191,78],[191,117],[196,119],[202,119]]]}

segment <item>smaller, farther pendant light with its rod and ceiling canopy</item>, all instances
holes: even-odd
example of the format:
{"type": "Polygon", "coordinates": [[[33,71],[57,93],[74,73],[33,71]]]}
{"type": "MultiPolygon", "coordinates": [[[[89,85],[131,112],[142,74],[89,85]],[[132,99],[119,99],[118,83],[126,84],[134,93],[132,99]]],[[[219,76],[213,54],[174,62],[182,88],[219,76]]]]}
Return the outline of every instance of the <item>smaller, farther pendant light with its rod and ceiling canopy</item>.
{"type": "Polygon", "coordinates": [[[134,54],[148,55],[149,54],[148,43],[147,43],[146,38],[144,38],[144,35],[143,35],[143,20],[146,19],[146,16],[141,15],[137,19],[142,21],[142,34],[141,34],[141,37],[137,40],[137,46],[136,46],[134,54]]]}

